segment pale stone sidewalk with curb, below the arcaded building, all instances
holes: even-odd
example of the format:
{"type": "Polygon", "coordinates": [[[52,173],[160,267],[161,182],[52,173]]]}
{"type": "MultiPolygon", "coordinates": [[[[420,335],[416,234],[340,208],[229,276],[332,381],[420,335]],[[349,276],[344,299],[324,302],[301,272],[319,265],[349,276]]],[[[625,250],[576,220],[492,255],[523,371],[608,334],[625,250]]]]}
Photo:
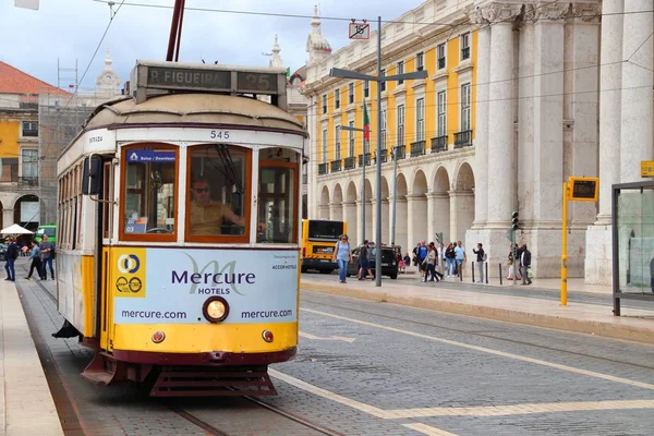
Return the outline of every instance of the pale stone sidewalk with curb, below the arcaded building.
{"type": "Polygon", "coordinates": [[[397,280],[383,277],[382,287],[377,288],[371,280],[352,277],[347,283],[339,283],[338,276],[303,274],[300,287],[305,291],[654,343],[654,304],[638,302],[626,307],[622,303],[623,316],[613,316],[608,287],[583,287],[578,280],[570,280],[568,305],[561,306],[558,289],[545,288],[558,286],[557,280],[534,280],[526,287],[509,281],[500,287],[475,284],[470,279],[423,283],[417,277],[411,272],[397,280]]]}

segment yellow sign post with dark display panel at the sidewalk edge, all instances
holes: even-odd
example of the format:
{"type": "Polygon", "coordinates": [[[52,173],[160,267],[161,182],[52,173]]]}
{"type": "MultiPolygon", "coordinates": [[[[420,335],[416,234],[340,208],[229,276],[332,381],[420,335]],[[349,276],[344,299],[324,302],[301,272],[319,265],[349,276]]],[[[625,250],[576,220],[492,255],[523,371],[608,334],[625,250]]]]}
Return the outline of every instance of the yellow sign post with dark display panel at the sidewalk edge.
{"type": "Polygon", "coordinates": [[[568,305],[568,202],[596,202],[600,179],[571,177],[564,183],[564,223],[561,226],[561,305],[568,305]]]}

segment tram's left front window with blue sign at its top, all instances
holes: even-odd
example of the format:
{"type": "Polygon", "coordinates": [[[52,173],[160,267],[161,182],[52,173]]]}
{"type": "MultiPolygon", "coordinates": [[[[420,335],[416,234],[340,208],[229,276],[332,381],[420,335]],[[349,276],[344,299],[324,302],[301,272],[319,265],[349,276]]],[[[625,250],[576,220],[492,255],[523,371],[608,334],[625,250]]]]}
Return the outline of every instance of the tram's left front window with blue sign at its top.
{"type": "Polygon", "coordinates": [[[123,232],[173,233],[177,153],[171,148],[130,148],[125,160],[123,232]]]}

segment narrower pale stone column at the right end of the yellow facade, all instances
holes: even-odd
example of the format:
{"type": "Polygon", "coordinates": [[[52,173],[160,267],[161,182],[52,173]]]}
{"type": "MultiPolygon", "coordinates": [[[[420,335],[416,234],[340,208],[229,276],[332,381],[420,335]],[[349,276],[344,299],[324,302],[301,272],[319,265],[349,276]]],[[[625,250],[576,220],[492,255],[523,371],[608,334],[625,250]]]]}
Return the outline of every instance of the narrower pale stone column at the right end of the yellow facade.
{"type": "MultiPolygon", "coordinates": [[[[476,8],[470,14],[471,21],[477,26],[476,49],[476,101],[474,132],[474,197],[473,227],[483,227],[488,217],[488,81],[491,78],[491,27],[484,17],[484,11],[476,8]]],[[[433,210],[429,205],[429,210],[433,210]]],[[[429,220],[432,223],[432,220],[429,220]]],[[[429,231],[429,234],[434,234],[429,231]]]]}

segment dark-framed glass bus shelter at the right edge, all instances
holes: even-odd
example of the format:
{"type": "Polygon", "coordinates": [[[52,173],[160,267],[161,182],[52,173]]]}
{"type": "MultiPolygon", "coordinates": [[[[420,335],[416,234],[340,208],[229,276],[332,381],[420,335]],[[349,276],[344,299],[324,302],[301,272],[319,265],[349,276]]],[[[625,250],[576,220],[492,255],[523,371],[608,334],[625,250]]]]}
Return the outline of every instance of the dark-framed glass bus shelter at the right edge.
{"type": "Polygon", "coordinates": [[[654,304],[654,182],[613,185],[613,299],[654,304]]]}

